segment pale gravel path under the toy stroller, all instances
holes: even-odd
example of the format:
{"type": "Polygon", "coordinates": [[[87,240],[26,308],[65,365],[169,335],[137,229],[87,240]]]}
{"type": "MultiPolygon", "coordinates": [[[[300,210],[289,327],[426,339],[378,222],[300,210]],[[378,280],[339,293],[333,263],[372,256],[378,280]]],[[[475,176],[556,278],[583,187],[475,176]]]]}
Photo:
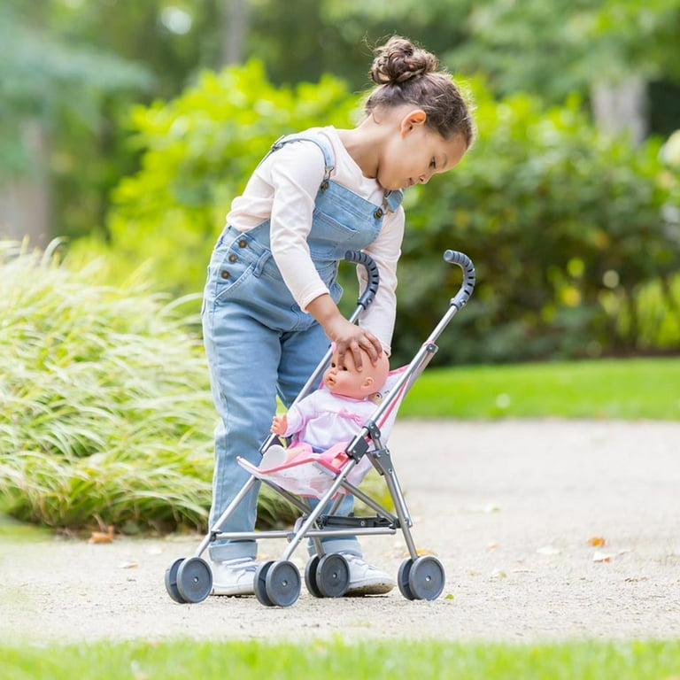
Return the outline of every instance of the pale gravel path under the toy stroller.
{"type": "MultiPolygon", "coordinates": [[[[416,545],[444,563],[439,599],[315,599],[303,585],[288,608],[177,605],[165,570],[197,537],[4,539],[0,639],[680,636],[680,423],[406,421],[390,442],[416,545]]],[[[400,534],[362,545],[397,575],[400,534]]],[[[260,544],[262,556],[282,550],[260,544]]]]}

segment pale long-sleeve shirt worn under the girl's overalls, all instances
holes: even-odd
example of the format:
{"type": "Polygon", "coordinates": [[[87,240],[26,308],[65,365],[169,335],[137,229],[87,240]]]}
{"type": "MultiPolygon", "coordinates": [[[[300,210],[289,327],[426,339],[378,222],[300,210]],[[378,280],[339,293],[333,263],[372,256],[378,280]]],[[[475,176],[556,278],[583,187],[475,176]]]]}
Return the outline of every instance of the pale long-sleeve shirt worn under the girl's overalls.
{"type": "MultiPolygon", "coordinates": [[[[309,133],[323,135],[332,151],[335,168],[331,179],[375,205],[383,205],[384,189],[375,179],[365,177],[361,168],[344,148],[336,128],[312,128],[309,133]]],[[[312,228],[314,199],[325,174],[323,153],[309,141],[285,144],[267,156],[251,175],[243,194],[236,197],[227,223],[248,231],[263,220],[271,220],[270,243],[276,265],[293,298],[306,311],[314,298],[328,293],[310,257],[307,236],[312,228]]],[[[388,212],[379,236],[364,250],[375,260],[380,285],[375,301],[359,319],[378,337],[390,353],[397,299],[397,262],[404,236],[404,209],[388,212]]],[[[358,268],[359,283],[366,285],[363,267],[358,268]]]]}

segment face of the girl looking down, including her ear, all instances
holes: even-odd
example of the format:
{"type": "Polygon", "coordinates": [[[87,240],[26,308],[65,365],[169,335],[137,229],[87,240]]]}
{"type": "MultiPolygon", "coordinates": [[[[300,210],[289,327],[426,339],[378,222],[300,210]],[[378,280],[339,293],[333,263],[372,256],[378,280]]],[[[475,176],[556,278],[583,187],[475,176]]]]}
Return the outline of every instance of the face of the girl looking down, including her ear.
{"type": "Polygon", "coordinates": [[[457,166],[468,151],[463,135],[445,140],[425,125],[426,115],[414,110],[404,116],[378,158],[376,179],[385,189],[407,189],[429,182],[433,174],[457,166]]]}

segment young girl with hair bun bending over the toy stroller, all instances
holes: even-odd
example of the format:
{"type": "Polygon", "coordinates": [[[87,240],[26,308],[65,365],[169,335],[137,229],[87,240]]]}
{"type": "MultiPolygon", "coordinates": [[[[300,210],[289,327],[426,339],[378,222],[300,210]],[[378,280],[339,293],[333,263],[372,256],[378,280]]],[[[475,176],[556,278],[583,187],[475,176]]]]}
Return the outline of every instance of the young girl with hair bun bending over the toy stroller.
{"type": "MultiPolygon", "coordinates": [[[[375,50],[365,118],[356,128],[312,128],[274,143],[236,197],[213,250],[203,305],[205,350],[220,422],[215,431],[217,521],[259,462],[276,395],[290,406],[336,344],[338,360],[361,350],[389,356],[396,268],[404,234],[402,189],[456,166],[473,139],[468,106],[437,58],[404,38],[375,50]],[[336,303],[337,264],[347,250],[371,255],[380,272],[375,301],[350,323],[336,303]]],[[[363,279],[363,271],[359,278],[363,279]]],[[[365,282],[361,282],[363,285],[365,282]]],[[[341,513],[352,509],[347,497],[341,513]]],[[[221,529],[252,531],[257,488],[221,529]]],[[[333,537],[326,553],[350,566],[348,595],[388,592],[394,581],[361,557],[355,537],[333,537]]],[[[253,593],[254,541],[210,548],[213,594],[253,593]]]]}

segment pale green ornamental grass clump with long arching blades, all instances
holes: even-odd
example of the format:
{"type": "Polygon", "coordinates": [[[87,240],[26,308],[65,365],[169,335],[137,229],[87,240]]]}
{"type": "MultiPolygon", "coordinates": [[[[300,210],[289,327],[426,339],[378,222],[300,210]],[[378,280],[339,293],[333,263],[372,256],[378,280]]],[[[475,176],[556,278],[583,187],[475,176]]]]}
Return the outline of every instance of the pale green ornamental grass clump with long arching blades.
{"type": "MultiPolygon", "coordinates": [[[[196,298],[0,242],[0,495],[55,528],[205,529],[215,421],[196,298]]],[[[266,433],[263,433],[263,436],[266,433]]],[[[260,519],[288,517],[271,494],[260,519]]]]}

